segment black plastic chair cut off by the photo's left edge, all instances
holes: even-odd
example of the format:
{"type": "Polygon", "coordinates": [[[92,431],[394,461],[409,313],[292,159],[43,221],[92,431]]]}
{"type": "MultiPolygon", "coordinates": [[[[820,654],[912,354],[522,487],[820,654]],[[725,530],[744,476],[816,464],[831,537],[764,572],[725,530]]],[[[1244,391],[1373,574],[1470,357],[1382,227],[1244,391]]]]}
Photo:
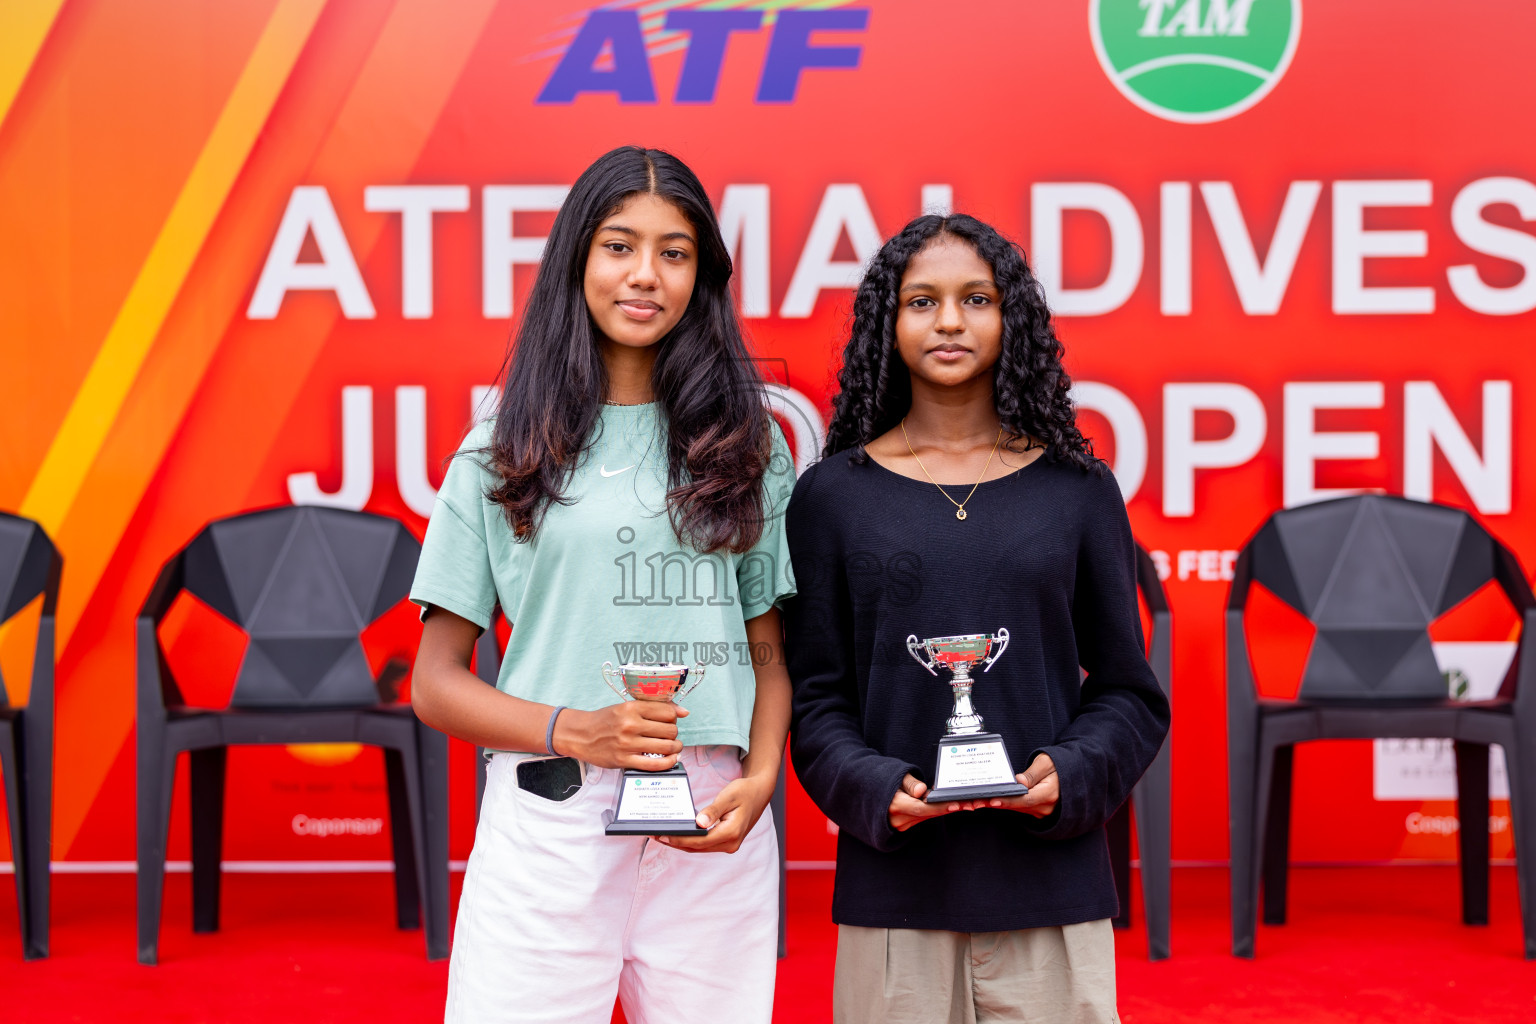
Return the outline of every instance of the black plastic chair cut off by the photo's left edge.
{"type": "Polygon", "coordinates": [[[0,775],[11,826],[22,955],[48,956],[48,860],[54,806],[54,609],[65,560],[31,519],[0,513],[0,622],[43,596],[32,686],[17,706],[0,679],[0,775]]]}

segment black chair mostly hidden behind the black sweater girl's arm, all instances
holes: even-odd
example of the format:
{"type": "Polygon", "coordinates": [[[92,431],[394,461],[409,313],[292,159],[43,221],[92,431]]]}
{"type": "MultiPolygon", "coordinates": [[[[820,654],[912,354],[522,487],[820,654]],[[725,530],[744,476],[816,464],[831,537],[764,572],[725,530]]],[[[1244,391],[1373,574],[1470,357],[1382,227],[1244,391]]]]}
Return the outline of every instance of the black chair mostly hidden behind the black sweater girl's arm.
{"type": "MultiPolygon", "coordinates": [[[[1163,692],[1172,697],[1174,637],[1172,616],[1167,608],[1167,593],[1157,576],[1152,556],[1137,545],[1137,586],[1152,613],[1152,645],[1147,662],[1157,676],[1163,692]]],[[[1163,749],[1130,792],[1130,800],[1121,804],[1109,820],[1109,855],[1115,870],[1115,894],[1120,897],[1120,917],[1115,927],[1130,927],[1130,818],[1135,811],[1137,844],[1141,852],[1141,906],[1147,915],[1147,960],[1167,960],[1167,929],[1170,906],[1170,847],[1174,818],[1174,743],[1163,740],[1163,749]]]]}

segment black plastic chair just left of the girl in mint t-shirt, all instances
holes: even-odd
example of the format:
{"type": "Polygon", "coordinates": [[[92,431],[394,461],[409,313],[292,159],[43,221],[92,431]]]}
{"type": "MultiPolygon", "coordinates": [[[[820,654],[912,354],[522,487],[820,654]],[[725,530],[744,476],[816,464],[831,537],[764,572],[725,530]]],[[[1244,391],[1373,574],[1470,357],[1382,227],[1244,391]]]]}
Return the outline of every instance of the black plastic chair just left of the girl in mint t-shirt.
{"type": "Polygon", "coordinates": [[[425,917],[449,955],[447,737],[381,700],[362,628],[406,597],[421,545],[393,519],[272,508],[209,524],[160,571],[138,614],[138,961],[154,964],[177,755],[192,777],[192,930],[218,930],[227,748],[384,748],[399,927],[425,917]],[[183,590],[246,631],[229,706],[190,708],[155,628],[183,590]]]}

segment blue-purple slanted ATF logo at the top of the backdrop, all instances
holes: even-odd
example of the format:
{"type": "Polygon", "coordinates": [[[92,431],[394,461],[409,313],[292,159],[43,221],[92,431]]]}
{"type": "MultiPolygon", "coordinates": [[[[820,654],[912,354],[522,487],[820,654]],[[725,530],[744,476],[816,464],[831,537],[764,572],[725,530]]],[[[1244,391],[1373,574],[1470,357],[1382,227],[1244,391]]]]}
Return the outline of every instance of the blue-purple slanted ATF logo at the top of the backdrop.
{"type": "MultiPolygon", "coordinates": [[[[584,92],[613,94],[619,103],[656,103],[651,57],[673,49],[687,51],[673,101],[713,103],[731,35],[763,31],[763,11],[674,8],[665,20],[651,18],[654,28],[647,32],[639,9],[590,11],[544,83],[538,103],[573,103],[584,92]],[[611,55],[611,64],[602,61],[605,54],[611,55]]],[[[803,71],[857,68],[859,45],[820,43],[813,35],[863,32],[868,25],[868,8],[780,8],[768,29],[757,103],[793,103],[803,71]]]]}

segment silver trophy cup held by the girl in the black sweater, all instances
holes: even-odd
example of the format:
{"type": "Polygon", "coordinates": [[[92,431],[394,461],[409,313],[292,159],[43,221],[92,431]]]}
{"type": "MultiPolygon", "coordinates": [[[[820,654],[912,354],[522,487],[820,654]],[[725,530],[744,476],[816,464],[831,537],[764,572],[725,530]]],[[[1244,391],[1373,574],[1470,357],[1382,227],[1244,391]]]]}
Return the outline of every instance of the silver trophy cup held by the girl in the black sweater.
{"type": "Polygon", "coordinates": [[[986,672],[1006,649],[1008,629],[998,629],[995,636],[966,633],[931,640],[919,640],[917,634],[906,637],[906,651],[932,676],[938,676],[935,666],[952,672],[949,688],[955,694],[954,714],[945,723],[949,731],[938,740],[938,765],[934,769],[934,785],[928,789],[928,803],[1021,797],[1029,792],[1014,775],[1003,737],[982,731],[982,715],[971,703],[971,688],[975,685],[971,666],[980,665],[986,672]]]}

